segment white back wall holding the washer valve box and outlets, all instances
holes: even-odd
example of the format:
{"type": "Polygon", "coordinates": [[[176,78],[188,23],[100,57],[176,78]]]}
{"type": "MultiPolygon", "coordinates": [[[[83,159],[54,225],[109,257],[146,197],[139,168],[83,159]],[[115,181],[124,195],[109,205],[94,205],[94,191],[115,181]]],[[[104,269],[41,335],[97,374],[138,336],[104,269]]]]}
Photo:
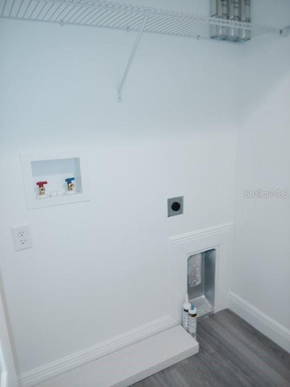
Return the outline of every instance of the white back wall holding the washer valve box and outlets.
{"type": "Polygon", "coordinates": [[[167,316],[168,237],[233,217],[238,46],[144,34],[120,104],[135,37],[0,20],[0,269],[21,372],[167,316]],[[19,154],[77,148],[92,200],[28,211],[19,154]],[[33,248],[15,252],[26,223],[33,248]]]}

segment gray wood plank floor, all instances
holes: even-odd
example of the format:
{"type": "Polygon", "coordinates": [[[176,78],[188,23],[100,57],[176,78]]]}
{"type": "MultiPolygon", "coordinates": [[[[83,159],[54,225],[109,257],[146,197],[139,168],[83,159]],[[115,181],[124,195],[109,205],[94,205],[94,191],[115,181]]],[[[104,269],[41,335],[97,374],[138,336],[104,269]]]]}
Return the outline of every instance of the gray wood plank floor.
{"type": "Polygon", "coordinates": [[[199,353],[132,387],[290,387],[290,355],[226,309],[198,321],[199,353]]]}

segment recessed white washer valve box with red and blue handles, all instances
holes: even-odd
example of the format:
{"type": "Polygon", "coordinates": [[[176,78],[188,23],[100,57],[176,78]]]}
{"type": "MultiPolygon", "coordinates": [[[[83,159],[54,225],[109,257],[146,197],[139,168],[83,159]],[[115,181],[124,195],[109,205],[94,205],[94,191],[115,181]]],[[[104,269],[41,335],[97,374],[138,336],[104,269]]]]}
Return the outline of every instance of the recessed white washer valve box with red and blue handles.
{"type": "Polygon", "coordinates": [[[28,209],[90,199],[85,152],[64,154],[21,155],[28,209]]]}

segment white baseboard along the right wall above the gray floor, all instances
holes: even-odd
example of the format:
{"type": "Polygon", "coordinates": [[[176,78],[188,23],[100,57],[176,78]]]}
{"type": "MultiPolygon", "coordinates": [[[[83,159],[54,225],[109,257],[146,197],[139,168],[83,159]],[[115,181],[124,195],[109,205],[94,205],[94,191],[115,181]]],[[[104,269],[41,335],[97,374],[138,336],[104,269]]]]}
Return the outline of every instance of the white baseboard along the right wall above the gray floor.
{"type": "Polygon", "coordinates": [[[229,292],[228,306],[230,310],[242,317],[247,323],[253,325],[269,339],[290,352],[290,330],[285,326],[277,323],[235,293],[229,292]]]}

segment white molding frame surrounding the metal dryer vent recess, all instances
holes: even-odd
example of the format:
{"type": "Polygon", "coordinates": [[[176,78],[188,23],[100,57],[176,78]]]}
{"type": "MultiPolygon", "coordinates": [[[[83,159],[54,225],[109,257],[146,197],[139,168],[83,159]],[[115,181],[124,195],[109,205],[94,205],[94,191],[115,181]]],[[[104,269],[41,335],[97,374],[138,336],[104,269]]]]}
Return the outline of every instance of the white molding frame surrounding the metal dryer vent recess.
{"type": "Polygon", "coordinates": [[[187,293],[187,260],[200,251],[216,250],[214,312],[228,307],[233,222],[169,238],[171,254],[172,317],[181,323],[181,305],[187,293]]]}

